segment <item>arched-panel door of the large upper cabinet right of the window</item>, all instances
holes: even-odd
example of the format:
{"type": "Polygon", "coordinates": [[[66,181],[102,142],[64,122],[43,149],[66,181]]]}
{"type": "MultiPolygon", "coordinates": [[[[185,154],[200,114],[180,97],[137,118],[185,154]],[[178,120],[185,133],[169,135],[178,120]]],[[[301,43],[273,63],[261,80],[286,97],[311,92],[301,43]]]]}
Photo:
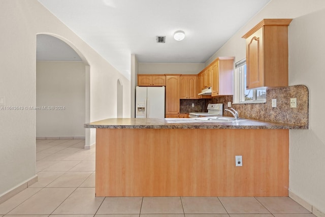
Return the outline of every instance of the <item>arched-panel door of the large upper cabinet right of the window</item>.
{"type": "Polygon", "coordinates": [[[264,86],[264,27],[246,39],[246,88],[264,86]]]}

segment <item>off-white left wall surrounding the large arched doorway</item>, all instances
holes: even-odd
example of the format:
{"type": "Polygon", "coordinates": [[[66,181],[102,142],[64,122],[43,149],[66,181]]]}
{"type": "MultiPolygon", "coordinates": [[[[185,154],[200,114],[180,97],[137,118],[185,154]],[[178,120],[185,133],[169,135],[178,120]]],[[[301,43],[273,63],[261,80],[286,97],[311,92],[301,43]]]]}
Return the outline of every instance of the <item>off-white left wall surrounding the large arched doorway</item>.
{"type": "MultiPolygon", "coordinates": [[[[130,81],[37,0],[0,0],[0,29],[0,96],[7,106],[36,106],[36,35],[42,33],[69,44],[90,66],[90,121],[116,117],[117,79],[123,116],[130,116],[130,81]]],[[[35,176],[36,111],[0,110],[0,120],[1,196],[35,176]]]]}

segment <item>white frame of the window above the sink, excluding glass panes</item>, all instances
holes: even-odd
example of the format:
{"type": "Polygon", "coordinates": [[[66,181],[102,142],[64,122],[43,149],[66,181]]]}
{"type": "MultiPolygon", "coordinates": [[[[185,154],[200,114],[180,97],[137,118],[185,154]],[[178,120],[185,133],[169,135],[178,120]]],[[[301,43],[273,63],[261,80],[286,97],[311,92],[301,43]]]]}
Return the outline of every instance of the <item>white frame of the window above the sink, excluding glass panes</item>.
{"type": "Polygon", "coordinates": [[[253,99],[245,100],[245,90],[246,90],[245,72],[244,72],[245,65],[246,65],[246,59],[242,59],[235,64],[235,76],[234,76],[235,84],[234,84],[233,104],[266,103],[266,97],[265,99],[257,100],[257,93],[261,91],[266,92],[266,87],[250,89],[250,91],[253,91],[253,99]]]}

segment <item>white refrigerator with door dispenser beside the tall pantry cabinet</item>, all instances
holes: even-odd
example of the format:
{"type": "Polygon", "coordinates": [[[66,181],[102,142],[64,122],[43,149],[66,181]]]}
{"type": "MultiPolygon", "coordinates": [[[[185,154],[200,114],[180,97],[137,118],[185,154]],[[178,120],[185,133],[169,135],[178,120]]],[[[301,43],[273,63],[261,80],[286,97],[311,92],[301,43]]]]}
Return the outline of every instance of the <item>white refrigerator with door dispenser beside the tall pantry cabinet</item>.
{"type": "Polygon", "coordinates": [[[165,87],[136,87],[136,117],[165,117],[165,87]]]}

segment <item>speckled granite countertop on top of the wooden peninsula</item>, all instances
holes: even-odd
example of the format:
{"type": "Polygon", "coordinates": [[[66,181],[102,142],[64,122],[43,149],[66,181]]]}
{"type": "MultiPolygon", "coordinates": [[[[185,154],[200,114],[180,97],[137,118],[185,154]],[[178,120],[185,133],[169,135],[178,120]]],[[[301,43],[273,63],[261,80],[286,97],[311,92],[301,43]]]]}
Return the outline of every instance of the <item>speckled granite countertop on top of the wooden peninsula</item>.
{"type": "Polygon", "coordinates": [[[217,122],[195,118],[109,118],[86,123],[84,128],[107,129],[308,129],[308,126],[240,119],[217,122]]]}

